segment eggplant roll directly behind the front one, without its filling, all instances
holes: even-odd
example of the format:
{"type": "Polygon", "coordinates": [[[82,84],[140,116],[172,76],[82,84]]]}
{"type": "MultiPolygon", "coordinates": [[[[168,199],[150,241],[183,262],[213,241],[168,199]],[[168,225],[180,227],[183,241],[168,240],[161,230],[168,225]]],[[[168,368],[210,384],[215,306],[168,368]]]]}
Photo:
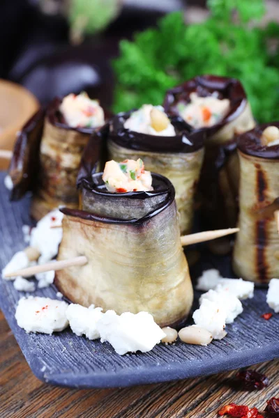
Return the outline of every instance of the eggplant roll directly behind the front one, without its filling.
{"type": "Polygon", "coordinates": [[[146,170],[167,177],[175,189],[176,206],[182,234],[193,224],[194,195],[204,158],[204,132],[190,132],[181,118],[171,118],[174,137],[142,134],[126,129],[133,112],[119,114],[110,121],[107,150],[111,160],[144,160],[146,170]]]}

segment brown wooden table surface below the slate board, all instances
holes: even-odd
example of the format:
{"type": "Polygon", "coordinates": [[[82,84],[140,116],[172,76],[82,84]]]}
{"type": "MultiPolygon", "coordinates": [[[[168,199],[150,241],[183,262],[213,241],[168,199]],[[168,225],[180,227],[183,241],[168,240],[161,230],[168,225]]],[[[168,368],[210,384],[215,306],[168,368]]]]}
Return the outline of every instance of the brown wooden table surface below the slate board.
{"type": "Polygon", "coordinates": [[[236,371],[206,378],[124,389],[67,389],[40,382],[29,369],[0,311],[1,418],[213,418],[220,405],[246,404],[264,410],[279,397],[279,359],[253,366],[269,377],[268,388],[237,389],[236,371]]]}

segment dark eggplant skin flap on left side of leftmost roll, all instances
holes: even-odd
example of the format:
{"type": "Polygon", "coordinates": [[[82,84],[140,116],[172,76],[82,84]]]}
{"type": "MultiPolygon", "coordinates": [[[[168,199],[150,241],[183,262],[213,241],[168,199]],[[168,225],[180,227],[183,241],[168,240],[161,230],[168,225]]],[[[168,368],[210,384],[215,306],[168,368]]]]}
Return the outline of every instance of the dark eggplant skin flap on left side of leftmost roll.
{"type": "Polygon", "coordinates": [[[45,112],[39,109],[17,134],[8,173],[13,180],[10,200],[21,199],[37,186],[40,162],[38,159],[43,134],[45,112]]]}

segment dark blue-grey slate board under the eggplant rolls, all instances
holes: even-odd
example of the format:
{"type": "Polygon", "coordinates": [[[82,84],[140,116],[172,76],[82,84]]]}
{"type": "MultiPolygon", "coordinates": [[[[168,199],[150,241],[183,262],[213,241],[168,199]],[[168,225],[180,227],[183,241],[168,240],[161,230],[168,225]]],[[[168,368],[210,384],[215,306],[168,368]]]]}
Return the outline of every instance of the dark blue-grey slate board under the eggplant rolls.
{"type": "MultiPolygon", "coordinates": [[[[0,173],[0,268],[15,251],[25,247],[22,225],[30,223],[29,199],[10,203],[0,173]]],[[[229,258],[204,255],[193,275],[205,268],[220,268],[229,274],[229,258]]],[[[227,276],[229,277],[229,276],[227,276]]],[[[15,307],[24,293],[13,283],[0,279],[0,307],[33,373],[44,382],[69,387],[126,387],[205,376],[242,366],[264,362],[279,356],[279,315],[266,321],[261,315],[270,311],[265,302],[266,289],[258,288],[255,298],[243,302],[244,311],[235,323],[227,326],[227,337],[208,347],[177,342],[160,344],[150,353],[117,355],[109,343],[89,341],[70,330],[54,334],[26,334],[17,326],[15,307]]],[[[56,298],[52,287],[36,295],[56,298]]],[[[195,304],[199,293],[195,295],[195,304]]]]}

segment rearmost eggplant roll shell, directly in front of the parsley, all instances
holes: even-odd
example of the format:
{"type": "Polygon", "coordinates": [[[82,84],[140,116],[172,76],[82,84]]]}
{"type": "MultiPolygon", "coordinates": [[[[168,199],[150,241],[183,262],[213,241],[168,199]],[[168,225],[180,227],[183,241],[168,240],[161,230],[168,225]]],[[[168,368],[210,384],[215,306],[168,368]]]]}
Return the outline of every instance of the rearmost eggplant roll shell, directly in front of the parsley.
{"type": "MultiPolygon", "coordinates": [[[[206,134],[205,157],[199,181],[199,203],[205,229],[236,225],[239,189],[239,160],[236,136],[255,127],[250,104],[241,83],[232,78],[204,75],[167,91],[165,110],[181,116],[181,106],[190,103],[191,95],[199,98],[228,100],[224,116],[210,126],[199,127],[206,134]]],[[[192,126],[192,129],[195,129],[192,126]]]]}

